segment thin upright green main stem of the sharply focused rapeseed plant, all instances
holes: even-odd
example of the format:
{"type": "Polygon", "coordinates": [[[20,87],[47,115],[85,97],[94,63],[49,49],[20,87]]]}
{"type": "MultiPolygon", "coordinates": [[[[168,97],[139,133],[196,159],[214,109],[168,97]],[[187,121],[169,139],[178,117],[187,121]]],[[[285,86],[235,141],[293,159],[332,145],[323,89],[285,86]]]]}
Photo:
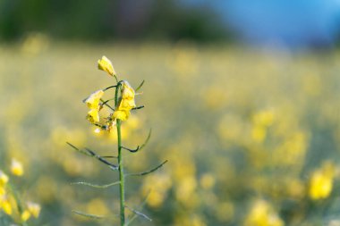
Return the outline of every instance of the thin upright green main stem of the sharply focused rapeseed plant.
{"type": "MultiPolygon", "coordinates": [[[[118,82],[115,88],[115,109],[118,107],[118,91],[121,84],[118,82]]],[[[118,171],[119,171],[119,192],[121,205],[121,226],[125,225],[125,190],[124,190],[124,171],[123,171],[123,154],[122,154],[122,134],[121,134],[121,120],[116,119],[117,127],[117,143],[118,143],[118,171]]]]}

